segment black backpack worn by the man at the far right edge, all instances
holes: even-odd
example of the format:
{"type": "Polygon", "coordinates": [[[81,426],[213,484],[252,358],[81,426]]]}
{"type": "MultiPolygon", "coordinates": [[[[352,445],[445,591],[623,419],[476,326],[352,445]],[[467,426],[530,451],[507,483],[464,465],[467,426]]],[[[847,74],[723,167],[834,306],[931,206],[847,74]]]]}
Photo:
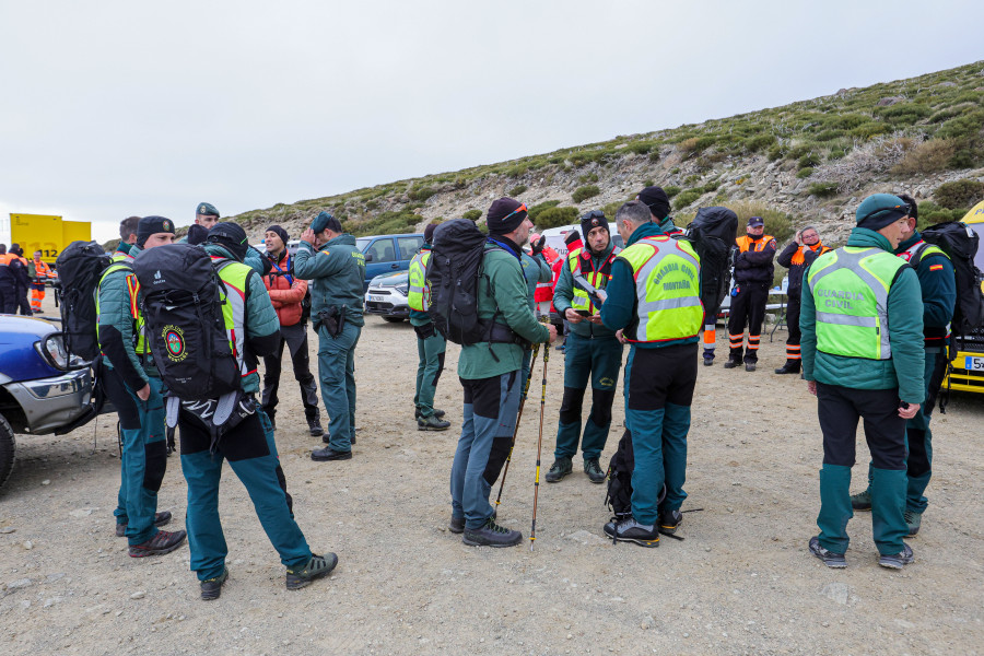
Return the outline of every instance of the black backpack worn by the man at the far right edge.
{"type": "MultiPolygon", "coordinates": [[[[981,291],[984,273],[974,265],[977,233],[962,221],[948,221],[924,230],[923,241],[938,246],[953,265],[957,279],[957,305],[950,323],[953,335],[970,335],[984,327],[984,292],[981,291]]],[[[917,267],[921,259],[922,251],[909,263],[917,267]]]]}

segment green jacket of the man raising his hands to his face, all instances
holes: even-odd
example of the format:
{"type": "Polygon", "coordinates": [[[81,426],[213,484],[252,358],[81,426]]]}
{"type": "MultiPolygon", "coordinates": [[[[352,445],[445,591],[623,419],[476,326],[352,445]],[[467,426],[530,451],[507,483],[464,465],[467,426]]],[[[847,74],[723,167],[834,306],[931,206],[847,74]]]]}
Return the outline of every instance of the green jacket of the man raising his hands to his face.
{"type": "Polygon", "coordinates": [[[312,318],[332,305],[344,305],[345,321],[365,325],[365,256],[355,246],[355,237],[339,235],[317,250],[301,242],[294,256],[294,273],[311,281],[312,318]]]}

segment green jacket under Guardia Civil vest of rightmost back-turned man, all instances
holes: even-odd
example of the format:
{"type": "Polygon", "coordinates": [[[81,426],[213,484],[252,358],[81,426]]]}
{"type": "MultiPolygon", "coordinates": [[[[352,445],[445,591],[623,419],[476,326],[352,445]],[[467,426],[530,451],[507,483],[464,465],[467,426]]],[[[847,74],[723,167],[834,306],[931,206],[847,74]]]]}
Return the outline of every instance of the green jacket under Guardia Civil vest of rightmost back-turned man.
{"type": "MultiPolygon", "coordinates": [[[[875,231],[855,227],[847,246],[881,248],[893,253],[887,238],[875,231]]],[[[899,272],[888,295],[888,330],[892,347],[890,360],[845,358],[817,351],[817,308],[810,291],[809,269],[804,272],[799,328],[803,331],[803,375],[807,380],[840,385],[852,389],[899,388],[899,398],[922,403],[925,396],[923,349],[923,298],[915,271],[899,272]]]]}

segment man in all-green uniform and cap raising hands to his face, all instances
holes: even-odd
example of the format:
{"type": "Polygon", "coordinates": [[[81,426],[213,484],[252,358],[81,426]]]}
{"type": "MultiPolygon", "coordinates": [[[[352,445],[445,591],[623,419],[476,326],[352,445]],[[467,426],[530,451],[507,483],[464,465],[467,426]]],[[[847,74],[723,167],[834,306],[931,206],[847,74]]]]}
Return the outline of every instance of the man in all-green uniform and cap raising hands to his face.
{"type": "Polygon", "coordinates": [[[349,460],[355,443],[355,344],[365,325],[365,256],[341,222],[321,212],[301,235],[294,271],[311,281],[311,315],[318,333],[318,377],[328,412],[328,446],[312,460],[349,460]]]}

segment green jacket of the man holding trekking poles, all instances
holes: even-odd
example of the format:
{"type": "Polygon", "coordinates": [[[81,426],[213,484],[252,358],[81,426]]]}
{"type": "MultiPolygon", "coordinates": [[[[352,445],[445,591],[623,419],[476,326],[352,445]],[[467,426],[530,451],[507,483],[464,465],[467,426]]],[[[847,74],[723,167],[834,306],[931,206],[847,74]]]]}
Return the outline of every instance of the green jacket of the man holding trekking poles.
{"type": "MultiPolygon", "coordinates": [[[[550,331],[537,321],[529,308],[529,290],[519,258],[492,243],[485,244],[483,257],[477,290],[479,318],[491,320],[495,317],[496,323],[508,326],[524,339],[546,342],[550,331]]],[[[458,358],[458,376],[466,380],[491,378],[520,368],[523,347],[519,344],[479,342],[462,345],[458,358]]]]}

